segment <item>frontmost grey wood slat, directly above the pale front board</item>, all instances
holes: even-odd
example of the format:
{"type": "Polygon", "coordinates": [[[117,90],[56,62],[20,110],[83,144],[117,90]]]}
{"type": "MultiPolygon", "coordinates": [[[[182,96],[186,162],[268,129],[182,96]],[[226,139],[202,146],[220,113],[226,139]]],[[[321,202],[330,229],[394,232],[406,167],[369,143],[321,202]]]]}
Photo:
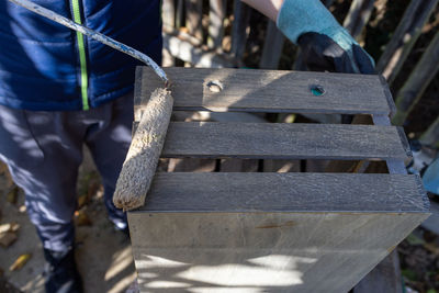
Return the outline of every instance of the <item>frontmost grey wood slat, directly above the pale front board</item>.
{"type": "Polygon", "coordinates": [[[139,211],[428,212],[426,196],[415,174],[157,173],[139,211]]]}

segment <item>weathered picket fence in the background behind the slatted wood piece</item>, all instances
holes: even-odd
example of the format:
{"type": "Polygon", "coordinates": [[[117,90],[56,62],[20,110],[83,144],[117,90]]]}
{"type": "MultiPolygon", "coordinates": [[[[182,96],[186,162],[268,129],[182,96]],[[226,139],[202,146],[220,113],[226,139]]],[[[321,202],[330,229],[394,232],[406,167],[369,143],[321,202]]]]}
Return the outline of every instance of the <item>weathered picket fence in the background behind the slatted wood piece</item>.
{"type": "MultiPolygon", "coordinates": [[[[322,0],[330,7],[334,0],[322,0]]],[[[392,86],[401,74],[419,38],[423,27],[439,0],[412,0],[384,53],[376,61],[376,70],[392,86]]],[[[374,0],[352,0],[342,22],[356,37],[361,38],[374,9],[374,0]]],[[[243,67],[243,56],[249,40],[251,8],[239,0],[164,0],[164,66],[243,67]]],[[[285,37],[275,24],[268,21],[259,68],[277,69],[285,37]]],[[[403,125],[414,105],[439,69],[439,32],[430,42],[423,58],[401,89],[393,89],[397,105],[394,124],[403,125]]],[[[291,69],[306,70],[300,52],[291,69]]],[[[421,135],[430,146],[439,145],[439,119],[421,135]]]]}

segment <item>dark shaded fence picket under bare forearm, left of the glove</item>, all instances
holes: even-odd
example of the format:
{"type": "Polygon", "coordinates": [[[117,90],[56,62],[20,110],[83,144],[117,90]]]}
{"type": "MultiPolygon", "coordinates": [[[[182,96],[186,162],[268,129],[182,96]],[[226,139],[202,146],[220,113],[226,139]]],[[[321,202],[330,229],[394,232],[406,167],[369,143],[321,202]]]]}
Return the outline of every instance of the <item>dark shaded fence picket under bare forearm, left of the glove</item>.
{"type": "Polygon", "coordinates": [[[278,69],[284,42],[285,37],[279,31],[275,23],[269,21],[259,68],[278,69]]]}

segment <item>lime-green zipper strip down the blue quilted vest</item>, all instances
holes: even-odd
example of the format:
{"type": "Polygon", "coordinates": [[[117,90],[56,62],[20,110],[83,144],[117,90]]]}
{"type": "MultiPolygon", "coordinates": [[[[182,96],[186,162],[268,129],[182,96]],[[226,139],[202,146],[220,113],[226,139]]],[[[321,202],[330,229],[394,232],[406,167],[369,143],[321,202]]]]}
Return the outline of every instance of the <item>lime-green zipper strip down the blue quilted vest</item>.
{"type": "MultiPolygon", "coordinates": [[[[79,9],[79,0],[71,1],[74,9],[74,21],[78,24],[82,24],[81,13],[79,9]]],[[[76,32],[76,37],[78,40],[78,50],[79,50],[79,63],[81,66],[81,95],[82,95],[82,110],[89,110],[89,97],[88,87],[89,78],[87,75],[87,58],[86,58],[86,45],[83,41],[83,34],[76,32]]]]}

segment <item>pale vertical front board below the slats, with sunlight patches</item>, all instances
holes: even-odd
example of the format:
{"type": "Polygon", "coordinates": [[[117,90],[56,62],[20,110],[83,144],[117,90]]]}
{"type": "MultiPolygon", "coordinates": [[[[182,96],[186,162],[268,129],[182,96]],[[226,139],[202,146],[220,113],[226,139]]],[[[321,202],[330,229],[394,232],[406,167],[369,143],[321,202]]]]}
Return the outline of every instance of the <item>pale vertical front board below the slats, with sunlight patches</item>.
{"type": "Polygon", "coordinates": [[[416,213],[128,213],[142,292],[348,292],[416,213]]]}

